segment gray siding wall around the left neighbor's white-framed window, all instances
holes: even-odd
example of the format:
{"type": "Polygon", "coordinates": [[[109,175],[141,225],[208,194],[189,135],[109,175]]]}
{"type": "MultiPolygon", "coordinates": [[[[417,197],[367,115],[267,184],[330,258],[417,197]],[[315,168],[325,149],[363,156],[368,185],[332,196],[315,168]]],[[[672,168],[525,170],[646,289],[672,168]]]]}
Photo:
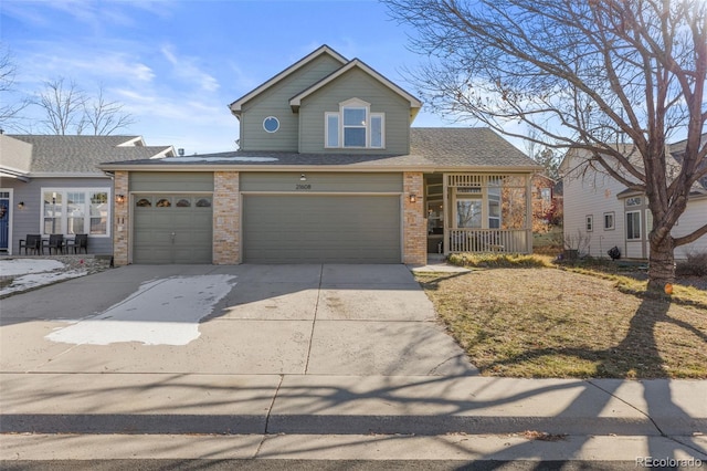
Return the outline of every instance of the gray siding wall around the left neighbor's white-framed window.
{"type": "MultiPolygon", "coordinates": [[[[42,233],[42,188],[101,188],[105,189],[113,201],[113,181],[109,178],[33,178],[29,182],[10,178],[2,178],[0,187],[3,190],[12,189],[10,205],[11,253],[19,254],[20,239],[27,234],[42,233]],[[18,203],[24,202],[24,209],[18,209],[18,203]]],[[[113,202],[112,202],[113,206],[113,202]]],[[[113,211],[113,208],[110,209],[113,211]]],[[[113,213],[110,213],[110,220],[113,213]]],[[[88,236],[88,253],[113,253],[113,228],[108,221],[108,234],[88,236]]],[[[71,238],[71,236],[68,236],[71,238]]],[[[24,252],[23,252],[24,254],[24,252]]]]}

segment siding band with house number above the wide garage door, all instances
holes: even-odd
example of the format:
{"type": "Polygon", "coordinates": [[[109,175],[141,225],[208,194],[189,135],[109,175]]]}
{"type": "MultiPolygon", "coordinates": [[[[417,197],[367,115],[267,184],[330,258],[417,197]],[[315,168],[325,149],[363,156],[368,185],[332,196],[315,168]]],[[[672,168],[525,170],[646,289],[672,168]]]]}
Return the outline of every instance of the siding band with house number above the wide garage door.
{"type": "Polygon", "coordinates": [[[240,189],[241,191],[297,191],[302,193],[401,192],[403,187],[402,174],[307,172],[305,174],[306,181],[299,180],[300,175],[300,172],[241,174],[240,189]]]}

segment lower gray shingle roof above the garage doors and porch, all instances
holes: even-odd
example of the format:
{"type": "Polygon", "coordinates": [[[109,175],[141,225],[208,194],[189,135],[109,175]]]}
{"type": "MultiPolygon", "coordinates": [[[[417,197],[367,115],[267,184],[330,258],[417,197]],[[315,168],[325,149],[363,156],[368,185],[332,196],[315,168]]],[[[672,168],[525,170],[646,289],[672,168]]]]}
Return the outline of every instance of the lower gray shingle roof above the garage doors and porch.
{"type": "MultiPolygon", "coordinates": [[[[115,161],[108,166],[344,166],[416,168],[506,168],[538,167],[537,164],[487,128],[411,128],[411,150],[407,155],[299,154],[233,150],[140,161],[115,161]]],[[[538,167],[539,168],[539,167],[538,167]]]]}

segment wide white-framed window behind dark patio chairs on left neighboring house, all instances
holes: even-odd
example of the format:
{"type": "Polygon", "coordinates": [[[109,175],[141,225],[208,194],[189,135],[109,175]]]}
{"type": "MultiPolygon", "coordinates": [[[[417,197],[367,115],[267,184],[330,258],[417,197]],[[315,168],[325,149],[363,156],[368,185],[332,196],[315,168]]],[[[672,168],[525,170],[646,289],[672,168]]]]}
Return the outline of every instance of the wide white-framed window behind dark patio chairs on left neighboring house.
{"type": "Polygon", "coordinates": [[[43,188],[43,234],[108,236],[108,188],[43,188]]]}

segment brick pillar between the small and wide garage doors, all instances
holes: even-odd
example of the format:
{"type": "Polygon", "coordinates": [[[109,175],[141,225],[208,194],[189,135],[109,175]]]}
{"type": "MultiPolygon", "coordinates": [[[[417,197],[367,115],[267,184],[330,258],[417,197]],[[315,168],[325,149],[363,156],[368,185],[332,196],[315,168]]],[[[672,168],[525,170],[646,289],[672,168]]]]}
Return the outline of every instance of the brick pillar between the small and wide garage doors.
{"type": "Polygon", "coordinates": [[[241,197],[238,171],[213,172],[213,263],[241,263],[241,197]]]}

